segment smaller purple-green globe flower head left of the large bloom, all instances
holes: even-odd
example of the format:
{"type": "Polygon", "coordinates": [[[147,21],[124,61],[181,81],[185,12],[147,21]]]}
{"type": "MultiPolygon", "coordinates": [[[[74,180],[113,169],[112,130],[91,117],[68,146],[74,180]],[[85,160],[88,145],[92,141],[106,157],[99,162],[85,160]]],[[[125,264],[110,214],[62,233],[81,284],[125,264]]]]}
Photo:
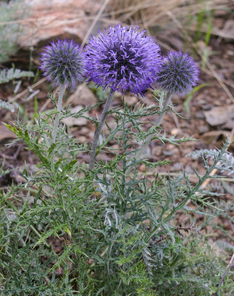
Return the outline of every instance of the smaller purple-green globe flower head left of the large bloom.
{"type": "Polygon", "coordinates": [[[83,79],[85,74],[85,55],[75,41],[67,39],[51,42],[41,53],[40,69],[43,76],[56,86],[75,86],[77,81],[83,79]]]}

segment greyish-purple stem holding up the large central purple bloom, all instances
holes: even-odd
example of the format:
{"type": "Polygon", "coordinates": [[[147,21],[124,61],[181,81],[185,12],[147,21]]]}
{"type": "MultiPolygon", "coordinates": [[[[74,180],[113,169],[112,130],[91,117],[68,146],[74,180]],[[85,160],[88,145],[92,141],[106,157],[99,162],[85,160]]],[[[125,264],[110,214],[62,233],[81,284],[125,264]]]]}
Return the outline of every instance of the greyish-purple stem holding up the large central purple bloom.
{"type": "Polygon", "coordinates": [[[97,147],[98,147],[98,142],[99,142],[99,136],[103,127],[103,124],[105,122],[106,119],[106,114],[109,111],[112,99],[114,96],[114,91],[111,89],[109,92],[109,95],[106,99],[106,104],[104,106],[104,109],[101,113],[101,118],[99,120],[99,124],[96,127],[94,136],[93,136],[93,142],[92,142],[92,146],[91,146],[91,153],[90,153],[90,161],[89,161],[89,170],[92,170],[94,168],[94,164],[95,164],[95,158],[96,158],[96,151],[97,151],[97,147]]]}

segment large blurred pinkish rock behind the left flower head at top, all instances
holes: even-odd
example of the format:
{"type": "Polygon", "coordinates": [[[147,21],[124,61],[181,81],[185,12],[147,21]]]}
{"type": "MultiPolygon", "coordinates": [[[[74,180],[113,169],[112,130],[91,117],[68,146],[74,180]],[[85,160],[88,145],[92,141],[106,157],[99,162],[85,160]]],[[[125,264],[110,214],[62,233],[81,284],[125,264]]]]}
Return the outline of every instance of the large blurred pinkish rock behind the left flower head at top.
{"type": "MultiPolygon", "coordinates": [[[[42,47],[56,38],[75,39],[81,43],[88,31],[92,17],[101,7],[98,0],[24,0],[30,7],[28,21],[23,23],[23,34],[18,44],[25,50],[42,47]]],[[[103,24],[99,24],[101,29],[103,24]]],[[[95,34],[94,32],[92,32],[95,34]]]]}

